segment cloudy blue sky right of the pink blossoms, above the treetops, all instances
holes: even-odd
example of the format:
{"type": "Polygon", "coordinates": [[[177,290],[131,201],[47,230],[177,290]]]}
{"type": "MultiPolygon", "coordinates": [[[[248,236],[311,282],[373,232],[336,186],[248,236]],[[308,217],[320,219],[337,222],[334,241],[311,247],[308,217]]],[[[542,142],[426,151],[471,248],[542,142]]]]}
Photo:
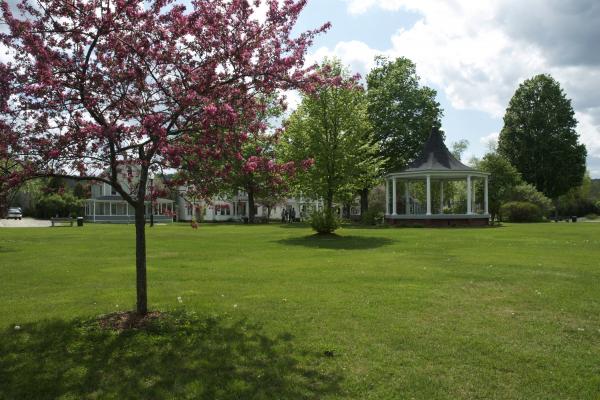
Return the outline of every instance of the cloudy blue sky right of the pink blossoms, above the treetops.
{"type": "Polygon", "coordinates": [[[333,26],[310,62],[336,56],[364,76],[376,54],[410,58],[438,92],[448,144],[469,141],[465,159],[486,152],[520,82],[552,74],[573,100],[588,169],[600,178],[600,57],[590,56],[600,2],[309,0],[297,30],[326,21],[333,26]]]}

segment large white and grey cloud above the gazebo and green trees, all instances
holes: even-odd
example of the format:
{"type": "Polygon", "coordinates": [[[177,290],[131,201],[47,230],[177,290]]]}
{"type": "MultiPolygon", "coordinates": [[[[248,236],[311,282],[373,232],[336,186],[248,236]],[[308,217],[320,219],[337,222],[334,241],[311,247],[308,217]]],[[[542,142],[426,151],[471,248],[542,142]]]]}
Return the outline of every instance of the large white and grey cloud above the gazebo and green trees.
{"type": "MultiPolygon", "coordinates": [[[[578,131],[588,153],[600,157],[597,1],[344,1],[351,14],[378,7],[421,16],[412,27],[392,36],[390,49],[351,42],[355,63],[368,68],[369,57],[377,53],[408,57],[424,82],[441,88],[454,108],[484,111],[496,118],[504,114],[523,80],[550,73],[573,99],[578,131]]],[[[343,54],[338,49],[343,46],[348,45],[338,44],[333,53],[343,54]]]]}

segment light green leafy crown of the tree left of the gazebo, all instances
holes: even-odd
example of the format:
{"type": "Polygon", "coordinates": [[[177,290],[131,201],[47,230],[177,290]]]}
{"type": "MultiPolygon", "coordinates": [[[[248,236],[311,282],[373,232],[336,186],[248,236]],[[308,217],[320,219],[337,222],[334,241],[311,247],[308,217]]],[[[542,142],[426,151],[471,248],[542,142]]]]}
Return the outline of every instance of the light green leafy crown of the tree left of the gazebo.
{"type": "Polygon", "coordinates": [[[337,60],[320,69],[332,79],[303,96],[286,122],[281,152],[287,161],[314,160],[296,185],[304,195],[322,198],[331,212],[334,201],[346,202],[372,185],[382,163],[363,88],[337,60]]]}

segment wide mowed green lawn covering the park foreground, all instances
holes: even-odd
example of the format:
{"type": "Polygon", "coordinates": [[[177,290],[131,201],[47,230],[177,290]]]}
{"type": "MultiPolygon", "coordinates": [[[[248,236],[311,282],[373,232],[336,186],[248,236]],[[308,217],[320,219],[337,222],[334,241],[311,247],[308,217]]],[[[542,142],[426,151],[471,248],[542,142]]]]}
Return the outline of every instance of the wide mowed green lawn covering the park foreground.
{"type": "Polygon", "coordinates": [[[0,230],[0,399],[600,398],[600,224],[147,231],[117,333],[133,226],[0,230]]]}

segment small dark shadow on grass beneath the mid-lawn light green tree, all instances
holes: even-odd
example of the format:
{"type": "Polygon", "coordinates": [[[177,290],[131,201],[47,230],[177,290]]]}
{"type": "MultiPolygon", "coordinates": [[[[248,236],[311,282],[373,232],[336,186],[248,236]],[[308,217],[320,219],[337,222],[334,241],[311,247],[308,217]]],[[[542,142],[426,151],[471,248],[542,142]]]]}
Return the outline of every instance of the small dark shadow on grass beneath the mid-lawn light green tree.
{"type": "Polygon", "coordinates": [[[394,241],[385,237],[310,235],[278,240],[277,243],[317,249],[366,250],[387,246],[394,241]]]}

